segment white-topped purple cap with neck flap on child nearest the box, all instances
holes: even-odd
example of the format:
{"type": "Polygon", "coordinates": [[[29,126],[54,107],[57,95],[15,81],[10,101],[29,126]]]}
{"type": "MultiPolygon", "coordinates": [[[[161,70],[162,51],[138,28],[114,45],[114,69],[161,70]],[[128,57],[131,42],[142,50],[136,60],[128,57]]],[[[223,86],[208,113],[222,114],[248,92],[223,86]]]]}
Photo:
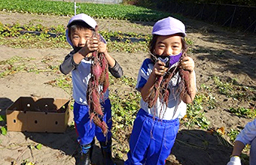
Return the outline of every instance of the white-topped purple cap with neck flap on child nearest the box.
{"type": "MultiPolygon", "coordinates": [[[[97,23],[95,20],[93,20],[92,17],[88,16],[87,14],[85,13],[79,13],[78,15],[75,15],[74,17],[72,17],[70,20],[69,20],[69,23],[67,25],[67,27],[69,28],[70,26],[74,25],[74,23],[76,22],[84,22],[84,23],[87,23],[88,26],[92,27],[93,29],[95,29],[95,27],[97,26],[97,23]]],[[[99,37],[100,37],[100,40],[103,42],[103,43],[107,43],[105,41],[105,39],[102,37],[101,34],[99,34],[99,37]]],[[[69,29],[66,29],[66,38],[67,38],[67,41],[68,43],[73,46],[73,43],[72,41],[70,40],[69,38],[69,29]]]]}

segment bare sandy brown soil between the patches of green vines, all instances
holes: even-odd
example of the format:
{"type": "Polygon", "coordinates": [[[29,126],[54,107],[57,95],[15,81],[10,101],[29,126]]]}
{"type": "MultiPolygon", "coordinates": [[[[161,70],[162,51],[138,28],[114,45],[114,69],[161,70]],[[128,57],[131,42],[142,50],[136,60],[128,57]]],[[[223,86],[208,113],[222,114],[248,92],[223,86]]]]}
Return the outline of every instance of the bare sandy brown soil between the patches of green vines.
{"type": "MultiPolygon", "coordinates": [[[[53,17],[30,15],[26,13],[0,12],[0,22],[3,24],[20,23],[21,25],[41,23],[44,26],[66,25],[69,17],[53,17]]],[[[136,31],[136,33],[151,33],[154,23],[130,23],[120,20],[96,20],[99,28],[111,31],[136,31]]],[[[213,81],[209,79],[213,75],[229,79],[236,79],[242,86],[256,88],[256,35],[245,34],[239,31],[230,31],[219,26],[213,26],[196,20],[182,20],[187,28],[187,37],[193,41],[194,53],[191,57],[195,61],[197,74],[197,90],[205,84],[211,87],[213,81]]],[[[20,49],[0,46],[1,60],[7,60],[14,55],[23,58],[33,58],[26,65],[35,65],[45,68],[42,61],[50,58],[52,64],[60,64],[65,55],[71,49],[20,49]]],[[[117,62],[123,68],[127,77],[137,77],[139,67],[147,54],[111,52],[117,62]]],[[[63,89],[47,85],[54,80],[59,72],[29,73],[18,72],[8,77],[0,78],[0,115],[5,115],[5,110],[20,96],[38,96],[46,98],[71,98],[69,92],[63,89]]],[[[125,86],[125,85],[123,85],[125,86]]],[[[110,87],[111,88],[111,87],[110,87]]],[[[230,107],[249,107],[247,102],[240,102],[224,95],[215,95],[218,107],[213,110],[205,110],[205,116],[211,121],[210,127],[224,127],[225,130],[244,127],[250,118],[239,118],[231,115],[227,110],[230,107]]],[[[255,103],[254,103],[255,105],[255,103]]],[[[72,121],[72,116],[69,118],[72,121]]],[[[227,140],[225,140],[227,139],[227,140]]],[[[172,154],[166,164],[226,164],[232,151],[228,142],[212,135],[205,130],[195,127],[186,130],[181,125],[178,132],[172,154]],[[171,163],[172,162],[172,163],[171,163]]],[[[99,144],[96,142],[93,160],[96,164],[102,164],[99,144]]],[[[75,164],[78,155],[75,130],[68,127],[65,133],[28,133],[8,132],[0,134],[1,164],[11,164],[16,161],[29,160],[36,164],[75,164]],[[30,144],[41,143],[43,147],[32,149],[30,144]]],[[[117,164],[123,164],[118,160],[117,164]]]]}

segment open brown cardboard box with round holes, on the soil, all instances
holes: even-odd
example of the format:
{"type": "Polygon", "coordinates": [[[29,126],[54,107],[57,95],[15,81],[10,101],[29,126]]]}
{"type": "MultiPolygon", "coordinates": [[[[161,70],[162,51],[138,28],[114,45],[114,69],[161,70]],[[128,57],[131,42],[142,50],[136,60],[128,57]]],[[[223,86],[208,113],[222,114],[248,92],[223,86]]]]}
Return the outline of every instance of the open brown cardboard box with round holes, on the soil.
{"type": "Polygon", "coordinates": [[[65,132],[69,99],[20,97],[6,110],[8,131],[65,132]]]}

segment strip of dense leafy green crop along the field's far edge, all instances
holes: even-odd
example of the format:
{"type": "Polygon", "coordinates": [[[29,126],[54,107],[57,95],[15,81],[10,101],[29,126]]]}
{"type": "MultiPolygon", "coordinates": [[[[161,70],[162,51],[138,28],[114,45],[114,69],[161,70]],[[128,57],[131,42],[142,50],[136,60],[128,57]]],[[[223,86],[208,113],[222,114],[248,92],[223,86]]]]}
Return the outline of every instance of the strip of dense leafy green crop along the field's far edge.
{"type": "MultiPolygon", "coordinates": [[[[87,13],[99,19],[156,21],[168,17],[169,13],[137,7],[134,5],[109,5],[94,3],[77,3],[77,13],[87,13]]],[[[44,0],[0,0],[0,10],[19,12],[73,16],[74,2],[44,0]]]]}

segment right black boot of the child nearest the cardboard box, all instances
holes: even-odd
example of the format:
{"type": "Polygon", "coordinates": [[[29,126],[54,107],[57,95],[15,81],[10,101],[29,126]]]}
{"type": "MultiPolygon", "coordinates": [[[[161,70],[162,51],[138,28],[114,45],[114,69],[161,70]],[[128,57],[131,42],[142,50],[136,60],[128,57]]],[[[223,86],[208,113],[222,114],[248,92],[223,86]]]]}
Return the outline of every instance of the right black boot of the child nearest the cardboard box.
{"type": "Polygon", "coordinates": [[[114,160],[111,155],[111,144],[112,141],[109,140],[108,142],[99,142],[101,149],[102,149],[102,155],[103,155],[103,161],[104,165],[115,165],[114,160]]]}

